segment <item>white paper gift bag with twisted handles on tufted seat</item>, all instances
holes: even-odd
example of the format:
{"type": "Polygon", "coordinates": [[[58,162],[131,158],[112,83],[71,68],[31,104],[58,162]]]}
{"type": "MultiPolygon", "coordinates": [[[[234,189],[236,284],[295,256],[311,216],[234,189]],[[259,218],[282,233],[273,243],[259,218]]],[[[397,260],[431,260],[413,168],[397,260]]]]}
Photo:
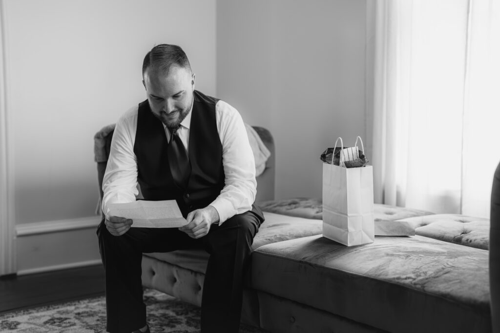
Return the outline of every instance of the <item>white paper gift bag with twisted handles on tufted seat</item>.
{"type": "MultiPolygon", "coordinates": [[[[339,140],[343,148],[341,138],[335,148],[339,140]]],[[[343,153],[341,150],[341,162],[348,160],[343,153]]],[[[373,167],[345,168],[334,165],[333,158],[331,164],[323,163],[323,237],[352,246],[372,243],[374,234],[373,167]]]]}

